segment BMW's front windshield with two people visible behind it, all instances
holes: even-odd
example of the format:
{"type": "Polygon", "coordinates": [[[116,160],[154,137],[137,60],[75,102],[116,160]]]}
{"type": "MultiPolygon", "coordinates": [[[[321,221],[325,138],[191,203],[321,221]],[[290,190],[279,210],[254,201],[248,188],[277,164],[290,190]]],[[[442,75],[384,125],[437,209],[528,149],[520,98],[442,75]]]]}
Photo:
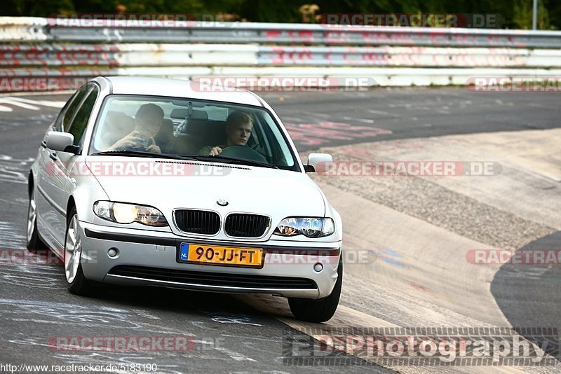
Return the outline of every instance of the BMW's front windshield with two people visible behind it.
{"type": "Polygon", "coordinates": [[[111,95],[97,118],[89,154],[154,153],[299,171],[271,113],[195,99],[111,95]]]}

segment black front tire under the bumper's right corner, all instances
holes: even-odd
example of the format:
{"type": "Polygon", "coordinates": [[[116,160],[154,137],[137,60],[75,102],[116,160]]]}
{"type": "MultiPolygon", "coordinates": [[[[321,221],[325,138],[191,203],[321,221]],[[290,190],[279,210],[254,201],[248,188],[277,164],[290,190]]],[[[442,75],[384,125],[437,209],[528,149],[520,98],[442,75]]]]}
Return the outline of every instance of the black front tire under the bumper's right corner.
{"type": "Polygon", "coordinates": [[[288,298],[288,305],[294,317],[301,321],[325,322],[329,321],[339,305],[341,287],[343,284],[343,261],[339,260],[337,269],[337,282],[330,296],[318,300],[304,298],[288,298]]]}

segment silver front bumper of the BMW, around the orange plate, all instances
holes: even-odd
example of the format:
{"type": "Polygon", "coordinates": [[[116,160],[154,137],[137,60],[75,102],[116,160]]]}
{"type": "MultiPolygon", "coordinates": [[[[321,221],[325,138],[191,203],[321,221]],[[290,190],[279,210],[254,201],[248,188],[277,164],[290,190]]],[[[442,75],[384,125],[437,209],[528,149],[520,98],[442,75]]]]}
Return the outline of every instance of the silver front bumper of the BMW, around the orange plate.
{"type": "Polygon", "coordinates": [[[337,281],[342,242],[223,242],[86,222],[80,226],[82,270],[87,279],[97,282],[316,299],[329,296],[337,281]],[[178,250],[184,242],[263,248],[264,264],[262,268],[238,268],[180,263],[178,250]],[[119,255],[109,257],[111,248],[119,255]],[[314,270],[316,263],[323,270],[314,270]]]}

